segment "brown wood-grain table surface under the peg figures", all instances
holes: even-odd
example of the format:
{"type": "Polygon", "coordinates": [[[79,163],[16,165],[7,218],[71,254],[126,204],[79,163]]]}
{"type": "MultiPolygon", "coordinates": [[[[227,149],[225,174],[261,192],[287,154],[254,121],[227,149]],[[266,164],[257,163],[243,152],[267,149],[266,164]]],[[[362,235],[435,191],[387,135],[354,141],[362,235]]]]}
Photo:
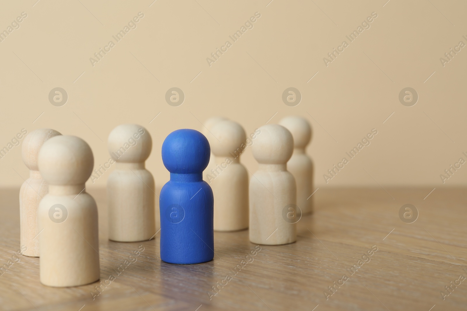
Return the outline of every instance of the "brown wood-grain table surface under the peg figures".
{"type": "MultiPolygon", "coordinates": [[[[467,277],[466,191],[431,190],[319,189],[313,195],[315,214],[298,221],[296,243],[256,247],[248,230],[216,232],[214,260],[174,265],[160,260],[159,233],[146,242],[108,241],[106,192],[94,189],[89,193],[99,207],[100,281],[108,285],[94,299],[91,292],[98,293],[100,283],[46,287],[39,282],[39,258],[19,256],[0,275],[0,309],[467,310],[467,279],[460,280],[467,277]],[[399,218],[407,203],[419,212],[410,224],[399,218]],[[351,274],[372,247],[377,251],[351,274]],[[126,266],[138,249],[144,250],[126,266]],[[117,274],[122,264],[125,269],[117,274]],[[237,265],[241,270],[234,274],[237,265]],[[232,279],[225,281],[226,275],[232,279]],[[451,281],[460,284],[447,296],[451,281]],[[218,282],[225,286],[210,300],[208,292],[215,293],[218,282]],[[328,286],[334,282],[343,285],[335,285],[331,296],[328,286]]],[[[19,189],[0,190],[1,265],[20,249],[18,194],[19,189]]]]}

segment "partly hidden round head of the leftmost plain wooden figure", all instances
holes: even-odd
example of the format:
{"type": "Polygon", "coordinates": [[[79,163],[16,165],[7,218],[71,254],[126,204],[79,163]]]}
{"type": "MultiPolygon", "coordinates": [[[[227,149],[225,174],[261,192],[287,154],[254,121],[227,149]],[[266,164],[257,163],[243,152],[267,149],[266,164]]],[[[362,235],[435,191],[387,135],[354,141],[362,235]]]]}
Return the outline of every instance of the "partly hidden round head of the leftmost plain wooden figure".
{"type": "Polygon", "coordinates": [[[24,164],[32,171],[38,171],[37,156],[44,142],[54,136],[62,135],[52,129],[39,129],[30,132],[23,140],[21,155],[24,164]]]}

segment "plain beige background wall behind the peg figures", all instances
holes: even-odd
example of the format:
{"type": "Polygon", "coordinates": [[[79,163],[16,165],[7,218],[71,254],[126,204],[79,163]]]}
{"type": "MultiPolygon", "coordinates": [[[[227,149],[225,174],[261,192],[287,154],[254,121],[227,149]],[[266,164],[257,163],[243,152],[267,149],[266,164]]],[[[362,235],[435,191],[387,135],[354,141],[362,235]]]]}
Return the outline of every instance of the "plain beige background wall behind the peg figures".
{"type": "MultiPolygon", "coordinates": [[[[467,165],[445,184],[439,177],[467,160],[467,48],[444,67],[439,60],[467,43],[464,1],[35,1],[0,10],[0,30],[28,15],[0,42],[1,147],[22,128],[50,127],[84,138],[97,167],[109,158],[113,127],[137,123],[153,138],[147,167],[161,187],[169,179],[161,145],[171,131],[200,130],[199,121],[220,115],[251,133],[295,114],[313,127],[317,187],[467,184],[467,165]],[[90,57],[138,12],[137,27],[92,66],[90,57]],[[254,27],[233,43],[228,36],[255,12],[254,27]],[[323,57],[372,12],[370,28],[326,67],[323,57]],[[227,40],[232,47],[210,67],[206,58],[227,40]],[[69,97],[61,107],[48,99],[55,87],[69,97]],[[165,102],[171,87],[184,91],[181,106],[165,102]],[[288,87],[303,96],[295,107],[282,101],[288,87]],[[405,87],[419,95],[412,107],[399,102],[405,87]],[[373,128],[371,145],[325,184],[322,175],[373,128]]],[[[242,161],[256,170],[250,149],[242,161]]],[[[21,185],[14,170],[27,178],[21,145],[0,159],[1,187],[21,185]]],[[[105,186],[108,173],[87,186],[105,186]]]]}

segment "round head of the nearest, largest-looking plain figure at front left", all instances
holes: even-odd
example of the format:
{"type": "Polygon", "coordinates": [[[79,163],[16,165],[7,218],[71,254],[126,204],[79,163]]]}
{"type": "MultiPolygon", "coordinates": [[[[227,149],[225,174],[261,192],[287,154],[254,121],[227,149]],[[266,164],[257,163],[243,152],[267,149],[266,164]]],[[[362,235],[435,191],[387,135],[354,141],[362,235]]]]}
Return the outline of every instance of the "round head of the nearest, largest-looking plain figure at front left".
{"type": "Polygon", "coordinates": [[[81,185],[91,176],[94,157],[83,139],[60,135],[42,145],[38,166],[49,185],[81,185]]]}

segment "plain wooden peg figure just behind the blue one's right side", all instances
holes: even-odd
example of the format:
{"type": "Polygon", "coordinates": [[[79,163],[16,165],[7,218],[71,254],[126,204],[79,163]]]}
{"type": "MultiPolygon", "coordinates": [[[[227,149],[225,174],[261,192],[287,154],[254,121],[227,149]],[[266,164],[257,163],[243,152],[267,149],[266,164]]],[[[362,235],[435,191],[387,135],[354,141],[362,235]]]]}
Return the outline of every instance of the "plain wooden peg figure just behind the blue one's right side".
{"type": "Polygon", "coordinates": [[[214,165],[205,176],[214,194],[214,230],[248,228],[248,173],[240,163],[246,134],[240,124],[224,120],[211,127],[208,138],[214,165]],[[243,145],[243,146],[242,146],[243,145]]]}

